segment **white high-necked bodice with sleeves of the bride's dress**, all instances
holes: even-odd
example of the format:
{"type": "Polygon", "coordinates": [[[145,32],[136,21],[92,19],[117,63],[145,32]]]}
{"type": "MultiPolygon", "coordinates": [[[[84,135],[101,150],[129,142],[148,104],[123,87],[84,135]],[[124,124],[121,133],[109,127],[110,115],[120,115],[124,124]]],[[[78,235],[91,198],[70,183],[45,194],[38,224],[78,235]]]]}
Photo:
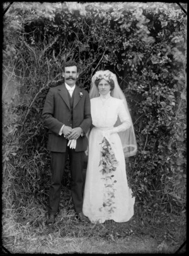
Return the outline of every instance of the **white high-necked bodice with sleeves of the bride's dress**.
{"type": "Polygon", "coordinates": [[[95,127],[113,127],[119,117],[122,124],[117,132],[125,131],[130,127],[130,120],[122,100],[109,96],[91,99],[91,117],[95,127]]]}

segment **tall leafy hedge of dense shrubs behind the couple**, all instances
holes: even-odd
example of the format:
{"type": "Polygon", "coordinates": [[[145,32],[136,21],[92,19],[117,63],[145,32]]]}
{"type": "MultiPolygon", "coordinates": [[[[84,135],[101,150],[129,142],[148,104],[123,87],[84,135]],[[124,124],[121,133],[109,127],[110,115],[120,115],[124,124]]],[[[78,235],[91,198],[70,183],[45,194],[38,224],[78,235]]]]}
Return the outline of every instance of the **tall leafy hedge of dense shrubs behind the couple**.
{"type": "Polygon", "coordinates": [[[127,163],[136,206],[146,214],[185,211],[186,16],[176,4],[159,4],[12,4],[4,16],[3,72],[19,87],[3,107],[5,203],[19,210],[32,197],[46,207],[42,108],[49,87],[62,83],[64,61],[74,59],[83,88],[96,71],[110,69],[127,97],[138,142],[127,163]]]}

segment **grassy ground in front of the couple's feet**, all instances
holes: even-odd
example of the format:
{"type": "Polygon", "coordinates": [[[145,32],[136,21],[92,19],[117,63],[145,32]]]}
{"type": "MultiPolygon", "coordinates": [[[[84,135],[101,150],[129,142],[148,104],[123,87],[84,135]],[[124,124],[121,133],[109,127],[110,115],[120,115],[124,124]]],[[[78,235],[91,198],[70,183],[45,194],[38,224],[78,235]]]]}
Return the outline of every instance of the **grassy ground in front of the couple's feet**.
{"type": "Polygon", "coordinates": [[[4,209],[3,246],[11,253],[174,253],[186,240],[185,213],[138,212],[127,223],[81,223],[67,193],[55,225],[48,227],[47,211],[33,200],[27,209],[4,209]]]}

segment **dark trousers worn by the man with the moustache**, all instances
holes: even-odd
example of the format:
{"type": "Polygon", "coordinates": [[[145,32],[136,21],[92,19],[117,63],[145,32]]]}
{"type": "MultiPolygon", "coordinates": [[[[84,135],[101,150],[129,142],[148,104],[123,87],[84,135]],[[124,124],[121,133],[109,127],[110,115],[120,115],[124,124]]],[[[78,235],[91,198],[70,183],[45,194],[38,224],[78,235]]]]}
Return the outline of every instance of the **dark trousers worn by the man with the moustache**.
{"type": "Polygon", "coordinates": [[[62,178],[64,168],[69,155],[71,168],[71,197],[76,213],[82,211],[83,207],[83,164],[84,151],[76,152],[75,149],[66,148],[66,153],[51,152],[51,171],[52,178],[50,183],[49,194],[49,213],[56,214],[59,209],[60,191],[62,187],[62,178]]]}

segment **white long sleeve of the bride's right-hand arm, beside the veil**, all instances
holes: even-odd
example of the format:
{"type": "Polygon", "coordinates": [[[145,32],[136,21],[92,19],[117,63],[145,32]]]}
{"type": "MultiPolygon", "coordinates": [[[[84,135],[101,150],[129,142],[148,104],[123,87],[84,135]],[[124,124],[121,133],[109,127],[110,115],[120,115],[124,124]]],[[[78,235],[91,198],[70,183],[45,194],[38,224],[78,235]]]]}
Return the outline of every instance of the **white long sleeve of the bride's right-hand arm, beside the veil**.
{"type": "Polygon", "coordinates": [[[114,127],[112,131],[113,133],[126,131],[127,129],[129,129],[131,125],[129,115],[127,114],[127,111],[122,101],[118,106],[118,117],[120,118],[120,122],[122,124],[118,125],[117,127],[114,127]]]}

